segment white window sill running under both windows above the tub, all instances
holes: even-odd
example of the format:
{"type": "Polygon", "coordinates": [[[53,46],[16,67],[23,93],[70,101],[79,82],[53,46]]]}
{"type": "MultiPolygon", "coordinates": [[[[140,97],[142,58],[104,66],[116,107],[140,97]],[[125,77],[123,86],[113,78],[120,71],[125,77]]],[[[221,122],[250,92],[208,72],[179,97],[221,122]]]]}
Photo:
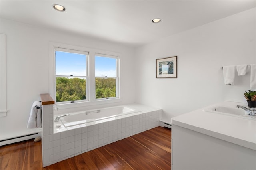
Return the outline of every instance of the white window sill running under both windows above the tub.
{"type": "Polygon", "coordinates": [[[110,103],[118,103],[122,102],[122,99],[106,99],[106,100],[98,100],[98,101],[85,101],[85,102],[77,102],[77,103],[65,103],[65,104],[58,104],[58,109],[69,109],[69,108],[76,108],[76,107],[85,107],[85,106],[94,106],[94,105],[105,105],[110,103]]]}

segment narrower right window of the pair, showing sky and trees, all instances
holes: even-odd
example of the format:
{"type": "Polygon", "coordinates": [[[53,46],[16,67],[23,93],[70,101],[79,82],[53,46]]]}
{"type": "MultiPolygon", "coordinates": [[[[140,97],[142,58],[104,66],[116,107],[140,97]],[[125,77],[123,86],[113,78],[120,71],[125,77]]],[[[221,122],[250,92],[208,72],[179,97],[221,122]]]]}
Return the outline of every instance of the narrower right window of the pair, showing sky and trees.
{"type": "Polygon", "coordinates": [[[109,55],[95,56],[96,99],[118,97],[118,58],[109,55]]]}

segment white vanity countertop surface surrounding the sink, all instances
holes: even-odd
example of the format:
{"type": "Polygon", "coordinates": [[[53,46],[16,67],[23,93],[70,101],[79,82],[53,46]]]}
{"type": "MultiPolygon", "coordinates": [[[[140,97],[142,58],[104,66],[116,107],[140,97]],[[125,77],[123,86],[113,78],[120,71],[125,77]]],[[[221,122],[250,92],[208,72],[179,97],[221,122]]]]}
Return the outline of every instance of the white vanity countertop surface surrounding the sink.
{"type": "Polygon", "coordinates": [[[206,108],[215,106],[236,108],[236,105],[248,107],[247,103],[224,101],[173,117],[171,122],[180,127],[256,150],[256,119],[250,120],[204,111],[206,108]]]}

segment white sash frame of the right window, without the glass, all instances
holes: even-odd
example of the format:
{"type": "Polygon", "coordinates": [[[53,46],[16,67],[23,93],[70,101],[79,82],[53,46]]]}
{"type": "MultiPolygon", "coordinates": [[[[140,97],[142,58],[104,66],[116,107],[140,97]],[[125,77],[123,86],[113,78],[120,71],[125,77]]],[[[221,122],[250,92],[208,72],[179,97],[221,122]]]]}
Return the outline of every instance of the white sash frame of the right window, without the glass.
{"type": "MultiPolygon", "coordinates": [[[[114,79],[116,79],[116,97],[98,98],[98,99],[95,99],[95,100],[99,101],[99,100],[108,100],[108,99],[117,99],[117,98],[119,98],[119,60],[120,60],[119,57],[118,56],[114,56],[114,55],[101,54],[101,53],[95,53],[94,58],[96,56],[116,59],[116,77],[99,77],[99,76],[95,75],[95,78],[107,78],[107,79],[108,78],[114,78],[114,79]]],[[[95,95],[96,95],[96,91],[95,91],[95,95]]]]}

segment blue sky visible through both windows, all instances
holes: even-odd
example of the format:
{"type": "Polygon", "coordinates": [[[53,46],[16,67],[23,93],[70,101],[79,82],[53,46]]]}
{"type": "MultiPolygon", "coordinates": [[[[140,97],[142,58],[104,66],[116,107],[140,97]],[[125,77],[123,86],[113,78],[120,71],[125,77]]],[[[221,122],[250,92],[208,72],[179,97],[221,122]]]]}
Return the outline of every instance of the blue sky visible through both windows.
{"type": "MultiPolygon", "coordinates": [[[[56,75],[86,75],[86,55],[55,51],[56,75]]],[[[95,57],[95,76],[116,76],[116,59],[95,57]]]]}

